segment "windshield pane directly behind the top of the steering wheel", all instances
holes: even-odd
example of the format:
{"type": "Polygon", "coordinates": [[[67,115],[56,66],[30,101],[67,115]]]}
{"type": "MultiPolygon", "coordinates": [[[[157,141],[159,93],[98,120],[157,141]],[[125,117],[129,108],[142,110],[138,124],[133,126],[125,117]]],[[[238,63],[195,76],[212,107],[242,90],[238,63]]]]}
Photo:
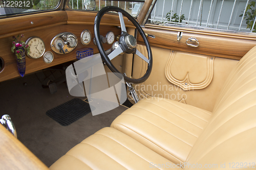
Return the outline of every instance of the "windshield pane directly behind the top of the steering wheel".
{"type": "Polygon", "coordinates": [[[69,7],[75,10],[99,11],[106,6],[122,8],[136,17],[144,4],[142,1],[70,0],[69,7]]]}

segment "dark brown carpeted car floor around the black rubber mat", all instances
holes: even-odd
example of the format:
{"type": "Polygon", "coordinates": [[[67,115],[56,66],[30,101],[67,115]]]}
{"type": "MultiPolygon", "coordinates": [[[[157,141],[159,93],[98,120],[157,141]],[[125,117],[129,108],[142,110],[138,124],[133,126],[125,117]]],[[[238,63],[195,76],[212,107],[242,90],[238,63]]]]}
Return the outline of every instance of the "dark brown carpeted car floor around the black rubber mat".
{"type": "Polygon", "coordinates": [[[1,116],[11,116],[18,139],[47,166],[86,137],[109,127],[127,109],[119,106],[96,116],[89,113],[69,126],[61,126],[48,117],[46,111],[75,97],[69,94],[65,83],[59,84],[54,94],[50,94],[49,88],[42,88],[49,75],[48,70],[0,83],[1,116]]]}

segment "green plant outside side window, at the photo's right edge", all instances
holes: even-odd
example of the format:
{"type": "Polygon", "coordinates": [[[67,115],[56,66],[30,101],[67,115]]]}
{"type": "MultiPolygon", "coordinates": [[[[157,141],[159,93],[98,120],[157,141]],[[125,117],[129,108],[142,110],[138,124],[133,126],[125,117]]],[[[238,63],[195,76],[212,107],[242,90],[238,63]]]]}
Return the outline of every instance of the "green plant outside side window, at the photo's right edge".
{"type": "MultiPolygon", "coordinates": [[[[243,11],[242,11],[243,12],[243,11]]],[[[244,13],[244,12],[243,12],[244,13]]],[[[243,14],[239,15],[240,17],[243,16],[243,14]]],[[[250,4],[248,4],[248,6],[246,7],[245,10],[245,14],[244,14],[244,19],[246,20],[246,24],[247,24],[247,28],[249,28],[250,30],[252,29],[253,26],[253,22],[255,20],[255,16],[256,16],[256,10],[255,10],[255,2],[252,1],[250,4]],[[252,9],[253,8],[253,9],[252,9]]],[[[246,28],[246,29],[247,29],[246,28]]],[[[252,32],[256,32],[256,25],[254,26],[254,28],[252,29],[252,32]]]]}

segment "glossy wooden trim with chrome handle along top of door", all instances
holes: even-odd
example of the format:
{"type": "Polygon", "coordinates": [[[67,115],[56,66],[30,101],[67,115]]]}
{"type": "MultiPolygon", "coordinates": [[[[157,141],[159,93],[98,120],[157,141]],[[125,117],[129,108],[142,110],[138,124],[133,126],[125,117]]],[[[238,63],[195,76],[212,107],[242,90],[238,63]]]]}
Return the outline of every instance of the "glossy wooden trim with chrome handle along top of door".
{"type": "MultiPolygon", "coordinates": [[[[152,34],[156,37],[154,39],[148,38],[151,46],[168,48],[171,50],[240,60],[253,46],[256,45],[255,38],[176,30],[169,29],[168,27],[152,27],[153,26],[146,26],[144,28],[145,33],[152,34]],[[179,31],[183,33],[181,40],[177,41],[177,34],[179,31]],[[191,37],[195,37],[198,40],[198,47],[190,47],[186,44],[188,38],[191,37]]],[[[138,41],[143,41],[141,36],[138,37],[138,41]]]]}

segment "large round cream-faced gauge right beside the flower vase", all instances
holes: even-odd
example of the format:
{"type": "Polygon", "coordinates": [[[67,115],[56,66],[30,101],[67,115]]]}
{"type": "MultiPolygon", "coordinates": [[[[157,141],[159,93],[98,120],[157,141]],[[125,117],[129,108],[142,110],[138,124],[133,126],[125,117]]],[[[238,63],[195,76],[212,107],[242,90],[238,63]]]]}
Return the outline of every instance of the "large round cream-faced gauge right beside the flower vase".
{"type": "Polygon", "coordinates": [[[30,37],[26,44],[30,46],[30,53],[27,54],[30,58],[39,58],[44,55],[46,47],[44,41],[39,37],[30,37]]]}

